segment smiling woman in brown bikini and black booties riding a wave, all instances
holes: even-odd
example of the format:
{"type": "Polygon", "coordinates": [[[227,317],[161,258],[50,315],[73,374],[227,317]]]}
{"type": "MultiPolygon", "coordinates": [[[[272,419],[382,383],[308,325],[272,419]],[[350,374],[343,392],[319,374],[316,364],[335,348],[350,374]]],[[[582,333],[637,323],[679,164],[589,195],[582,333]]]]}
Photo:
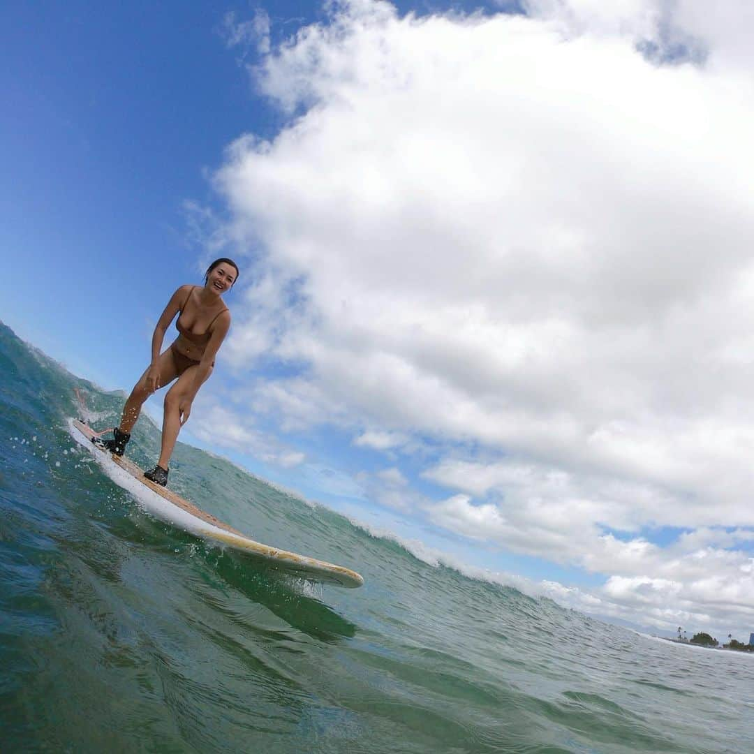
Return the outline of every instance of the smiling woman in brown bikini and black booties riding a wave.
{"type": "Polygon", "coordinates": [[[233,287],[236,280],[238,265],[223,257],[216,259],[207,269],[204,287],[183,285],[173,293],[152,336],[152,363],[134,385],[123,407],[121,425],[113,430],[115,438],[92,438],[97,446],[115,455],[123,455],[144,401],[158,388],[176,380],[165,395],[160,458],[153,469],[144,473],[156,484],[167,484],[168,464],[180,428],[189,420],[192,402],[212,374],[215,355],[228,334],[231,315],[222,302],[222,295],[233,287]],[[165,332],[176,314],[178,337],[170,348],[160,353],[165,332]]]}

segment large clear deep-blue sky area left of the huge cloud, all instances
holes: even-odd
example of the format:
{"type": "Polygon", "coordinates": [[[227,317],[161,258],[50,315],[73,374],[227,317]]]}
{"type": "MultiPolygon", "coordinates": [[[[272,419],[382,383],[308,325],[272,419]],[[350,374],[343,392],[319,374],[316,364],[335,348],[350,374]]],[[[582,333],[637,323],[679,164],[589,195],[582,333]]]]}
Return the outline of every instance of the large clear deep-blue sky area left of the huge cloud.
{"type": "MultiPolygon", "coordinates": [[[[182,201],[207,197],[203,170],[258,109],[213,33],[217,11],[186,11],[96,3],[2,11],[11,97],[2,143],[14,176],[2,186],[2,244],[37,270],[23,287],[6,279],[2,295],[34,342],[79,369],[92,361],[90,342],[112,331],[107,317],[90,314],[118,297],[133,303],[118,307],[121,317],[140,324],[159,309],[164,281],[192,277],[182,201]],[[40,302],[61,289],[69,317],[39,317],[40,302]]],[[[97,359],[103,382],[123,384],[143,359],[141,335],[97,359]]]]}

